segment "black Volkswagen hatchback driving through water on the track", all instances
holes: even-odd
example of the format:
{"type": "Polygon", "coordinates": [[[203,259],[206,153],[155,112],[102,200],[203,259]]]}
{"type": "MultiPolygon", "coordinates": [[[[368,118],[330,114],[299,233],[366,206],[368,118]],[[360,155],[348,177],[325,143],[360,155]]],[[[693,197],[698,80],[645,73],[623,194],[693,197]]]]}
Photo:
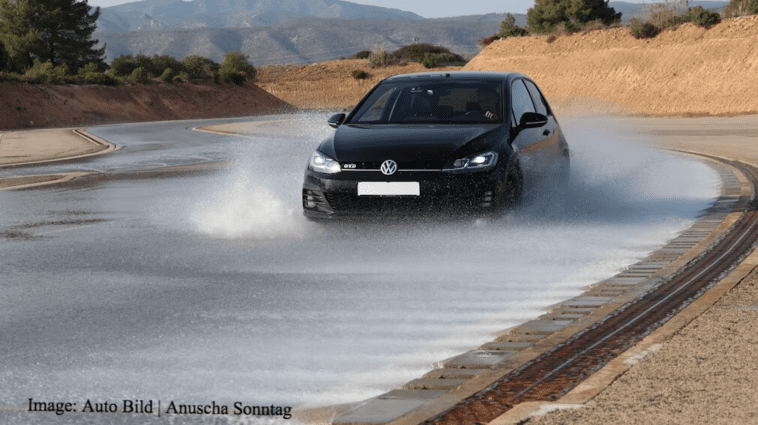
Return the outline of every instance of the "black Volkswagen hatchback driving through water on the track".
{"type": "Polygon", "coordinates": [[[561,128],[522,74],[396,75],[328,122],[305,171],[309,218],[499,211],[569,174],[561,128]]]}

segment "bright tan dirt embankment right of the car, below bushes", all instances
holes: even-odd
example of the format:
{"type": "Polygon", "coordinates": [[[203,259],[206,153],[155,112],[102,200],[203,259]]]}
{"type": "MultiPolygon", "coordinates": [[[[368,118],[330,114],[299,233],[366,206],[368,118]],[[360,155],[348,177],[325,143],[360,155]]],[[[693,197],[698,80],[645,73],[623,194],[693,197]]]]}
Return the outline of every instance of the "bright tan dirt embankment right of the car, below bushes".
{"type": "Polygon", "coordinates": [[[629,29],[499,40],[465,69],[534,78],[555,103],[612,102],[649,115],[758,113],[758,16],[710,29],[685,24],[652,39],[629,29]]]}

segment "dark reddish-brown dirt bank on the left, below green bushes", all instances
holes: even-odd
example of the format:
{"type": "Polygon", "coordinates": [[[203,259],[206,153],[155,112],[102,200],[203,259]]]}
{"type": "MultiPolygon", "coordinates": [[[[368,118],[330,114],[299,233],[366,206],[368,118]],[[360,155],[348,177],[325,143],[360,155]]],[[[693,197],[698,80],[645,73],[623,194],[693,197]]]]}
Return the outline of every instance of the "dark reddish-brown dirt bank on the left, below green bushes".
{"type": "Polygon", "coordinates": [[[0,130],[255,115],[291,105],[255,84],[0,84],[0,130]]]}

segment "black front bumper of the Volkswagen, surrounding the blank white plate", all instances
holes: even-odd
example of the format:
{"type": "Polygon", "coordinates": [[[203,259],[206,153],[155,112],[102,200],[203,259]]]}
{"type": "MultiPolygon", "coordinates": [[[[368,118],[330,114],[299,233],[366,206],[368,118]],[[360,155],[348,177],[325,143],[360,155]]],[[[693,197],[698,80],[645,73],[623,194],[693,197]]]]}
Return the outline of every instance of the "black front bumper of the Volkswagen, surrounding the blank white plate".
{"type": "Polygon", "coordinates": [[[339,216],[406,215],[482,211],[493,206],[502,191],[498,170],[470,174],[442,171],[403,172],[384,176],[377,172],[341,172],[328,175],[306,170],[303,214],[309,218],[339,216]],[[358,196],[361,181],[419,182],[420,196],[358,196]]]}

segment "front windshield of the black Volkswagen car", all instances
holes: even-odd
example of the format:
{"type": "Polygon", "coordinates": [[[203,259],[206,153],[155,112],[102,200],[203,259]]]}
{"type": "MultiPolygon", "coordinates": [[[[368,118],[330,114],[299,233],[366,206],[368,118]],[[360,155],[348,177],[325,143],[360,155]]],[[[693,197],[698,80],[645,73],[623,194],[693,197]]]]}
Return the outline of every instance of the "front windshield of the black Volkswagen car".
{"type": "Polygon", "coordinates": [[[380,85],[349,124],[501,122],[502,88],[483,82],[389,82],[380,85]]]}

